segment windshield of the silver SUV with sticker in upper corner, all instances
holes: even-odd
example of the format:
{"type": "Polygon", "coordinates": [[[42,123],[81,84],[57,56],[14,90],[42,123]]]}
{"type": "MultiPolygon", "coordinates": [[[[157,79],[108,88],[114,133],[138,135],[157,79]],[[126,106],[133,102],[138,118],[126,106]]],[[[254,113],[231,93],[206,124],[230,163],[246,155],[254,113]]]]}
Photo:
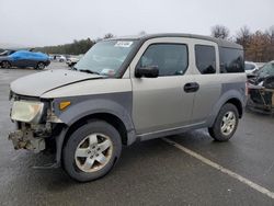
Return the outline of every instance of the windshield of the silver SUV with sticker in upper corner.
{"type": "Polygon", "coordinates": [[[76,70],[117,77],[119,68],[133,49],[135,41],[99,42],[78,61],[76,70]]]}

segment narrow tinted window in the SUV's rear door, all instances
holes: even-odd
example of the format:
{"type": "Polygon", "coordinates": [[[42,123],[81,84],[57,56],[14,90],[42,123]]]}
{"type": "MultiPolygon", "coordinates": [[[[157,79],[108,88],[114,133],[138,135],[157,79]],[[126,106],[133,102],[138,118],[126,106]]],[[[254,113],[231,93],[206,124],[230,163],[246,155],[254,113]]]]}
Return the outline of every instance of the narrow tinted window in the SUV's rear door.
{"type": "Polygon", "coordinates": [[[195,45],[196,67],[201,73],[216,72],[216,53],[214,46],[195,45]]]}

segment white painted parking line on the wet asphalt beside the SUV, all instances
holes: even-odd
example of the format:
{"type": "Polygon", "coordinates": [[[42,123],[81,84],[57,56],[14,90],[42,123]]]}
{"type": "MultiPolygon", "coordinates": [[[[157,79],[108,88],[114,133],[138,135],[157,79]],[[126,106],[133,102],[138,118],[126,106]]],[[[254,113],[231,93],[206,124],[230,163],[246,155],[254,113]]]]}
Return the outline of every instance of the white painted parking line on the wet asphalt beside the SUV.
{"type": "Polygon", "coordinates": [[[216,170],[219,170],[220,172],[225,173],[225,174],[228,174],[229,176],[242,182],[243,184],[248,185],[249,187],[271,197],[274,199],[274,193],[269,191],[267,188],[263,187],[263,186],[260,186],[259,184],[241,176],[240,174],[237,174],[235,172],[232,172],[231,170],[228,170],[221,165],[219,165],[218,163],[215,163],[213,162],[212,160],[207,159],[207,158],[204,158],[203,156],[196,153],[195,151],[192,151],[185,147],[183,147],[182,145],[171,140],[171,139],[168,139],[168,138],[162,138],[165,142],[176,147],[178,149],[180,149],[181,151],[184,151],[185,153],[192,156],[193,158],[196,158],[198,159],[199,161],[202,161],[203,163],[207,164],[207,165],[210,165],[212,168],[215,168],[216,170]]]}

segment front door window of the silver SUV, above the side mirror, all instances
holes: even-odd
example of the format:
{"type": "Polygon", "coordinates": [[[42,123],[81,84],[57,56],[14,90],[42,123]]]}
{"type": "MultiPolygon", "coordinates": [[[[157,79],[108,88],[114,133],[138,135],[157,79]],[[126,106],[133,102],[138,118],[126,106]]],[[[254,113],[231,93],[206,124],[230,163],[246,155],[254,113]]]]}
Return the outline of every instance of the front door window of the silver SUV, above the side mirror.
{"type": "Polygon", "coordinates": [[[138,67],[157,66],[159,76],[183,75],[189,66],[187,46],[184,44],[152,44],[142,54],[138,67]]]}

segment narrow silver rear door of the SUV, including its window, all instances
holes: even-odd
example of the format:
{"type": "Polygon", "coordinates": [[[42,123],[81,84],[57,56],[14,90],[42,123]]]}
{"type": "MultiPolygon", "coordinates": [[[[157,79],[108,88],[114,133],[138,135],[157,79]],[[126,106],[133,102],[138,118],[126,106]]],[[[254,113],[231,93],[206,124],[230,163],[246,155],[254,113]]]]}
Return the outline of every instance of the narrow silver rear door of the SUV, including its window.
{"type": "Polygon", "coordinates": [[[205,123],[221,93],[224,77],[219,76],[218,46],[214,42],[197,39],[194,46],[194,80],[199,90],[195,93],[192,121],[205,123]]]}

